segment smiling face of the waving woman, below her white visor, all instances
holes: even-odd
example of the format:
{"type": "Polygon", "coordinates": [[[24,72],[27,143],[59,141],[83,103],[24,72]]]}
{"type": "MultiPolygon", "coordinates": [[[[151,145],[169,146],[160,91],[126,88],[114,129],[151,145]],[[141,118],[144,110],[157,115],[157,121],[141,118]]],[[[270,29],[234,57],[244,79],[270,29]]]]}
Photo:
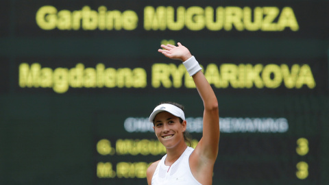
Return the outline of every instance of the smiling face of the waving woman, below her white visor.
{"type": "Polygon", "coordinates": [[[180,123],[180,118],[169,112],[159,112],[154,118],[154,132],[158,140],[167,149],[178,145],[186,145],[183,132],[186,130],[186,121],[180,123]]]}

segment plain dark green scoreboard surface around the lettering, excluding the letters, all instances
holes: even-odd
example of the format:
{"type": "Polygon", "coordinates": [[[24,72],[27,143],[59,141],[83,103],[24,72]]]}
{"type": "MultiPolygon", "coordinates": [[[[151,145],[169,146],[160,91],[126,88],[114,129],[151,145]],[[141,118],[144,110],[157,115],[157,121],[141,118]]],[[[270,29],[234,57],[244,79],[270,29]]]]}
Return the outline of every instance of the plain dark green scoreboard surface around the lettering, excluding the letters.
{"type": "MultiPolygon", "coordinates": [[[[284,134],[221,133],[213,184],[329,184],[328,180],[328,1],[1,1],[0,6],[0,184],[146,184],[145,179],[106,179],[96,176],[102,162],[151,162],[161,156],[101,156],[101,138],[149,138],[129,134],[127,117],[147,117],[160,101],[178,101],[187,117],[202,116],[195,89],[151,88],[151,65],[169,61],[157,52],[161,40],[182,42],[197,60],[220,65],[308,64],[317,86],[308,89],[214,89],[221,117],[284,117],[284,134]],[[45,31],[35,22],[42,5],[58,10],[134,10],[140,21],[134,31],[45,31]],[[190,7],[290,6],[298,32],[180,32],[145,31],[147,5],[190,7]],[[20,88],[18,66],[39,62],[71,68],[78,62],[115,68],[143,67],[147,88],[72,89],[64,94],[50,88],[20,88]],[[297,138],[309,141],[310,152],[298,156],[297,138]],[[306,161],[309,176],[298,180],[297,162],[306,161]]],[[[200,138],[200,134],[192,134],[200,138]]]]}

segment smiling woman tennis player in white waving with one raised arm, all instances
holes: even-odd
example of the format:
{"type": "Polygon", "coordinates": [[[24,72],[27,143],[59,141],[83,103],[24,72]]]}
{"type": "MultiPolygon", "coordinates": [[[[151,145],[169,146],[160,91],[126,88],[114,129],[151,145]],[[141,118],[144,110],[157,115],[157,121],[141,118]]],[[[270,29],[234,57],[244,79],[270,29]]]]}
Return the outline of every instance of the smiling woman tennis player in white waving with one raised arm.
{"type": "MultiPolygon", "coordinates": [[[[193,77],[197,91],[204,102],[203,134],[195,149],[184,140],[186,120],[184,111],[175,103],[162,103],[154,108],[149,121],[154,123],[158,140],[167,154],[147,169],[147,184],[212,184],[212,175],[219,145],[219,109],[214,91],[202,73],[195,57],[178,42],[161,45],[158,49],[167,58],[181,60],[193,77]]],[[[191,99],[191,101],[194,101],[191,99]]]]}

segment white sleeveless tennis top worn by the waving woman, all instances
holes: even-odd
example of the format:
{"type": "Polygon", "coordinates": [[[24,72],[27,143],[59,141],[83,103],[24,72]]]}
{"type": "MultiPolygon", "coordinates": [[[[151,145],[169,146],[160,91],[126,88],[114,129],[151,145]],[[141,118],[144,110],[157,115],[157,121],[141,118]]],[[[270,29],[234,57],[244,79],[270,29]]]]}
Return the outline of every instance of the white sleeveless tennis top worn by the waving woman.
{"type": "Polygon", "coordinates": [[[164,160],[167,157],[167,154],[162,157],[154,175],[152,177],[152,185],[161,185],[161,184],[180,184],[180,185],[202,185],[195,177],[193,177],[188,158],[190,158],[193,148],[187,147],[182,153],[182,156],[178,158],[170,167],[164,164],[164,160]]]}

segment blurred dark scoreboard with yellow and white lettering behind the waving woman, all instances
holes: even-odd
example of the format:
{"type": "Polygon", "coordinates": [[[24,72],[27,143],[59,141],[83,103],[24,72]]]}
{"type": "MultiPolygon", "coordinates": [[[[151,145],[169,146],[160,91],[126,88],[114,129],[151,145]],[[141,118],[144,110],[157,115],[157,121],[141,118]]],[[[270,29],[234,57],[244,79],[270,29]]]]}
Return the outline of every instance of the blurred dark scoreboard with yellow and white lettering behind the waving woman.
{"type": "Polygon", "coordinates": [[[329,184],[328,1],[24,1],[0,5],[0,184],[147,184],[165,149],[147,121],[219,101],[213,184],[329,184]]]}

